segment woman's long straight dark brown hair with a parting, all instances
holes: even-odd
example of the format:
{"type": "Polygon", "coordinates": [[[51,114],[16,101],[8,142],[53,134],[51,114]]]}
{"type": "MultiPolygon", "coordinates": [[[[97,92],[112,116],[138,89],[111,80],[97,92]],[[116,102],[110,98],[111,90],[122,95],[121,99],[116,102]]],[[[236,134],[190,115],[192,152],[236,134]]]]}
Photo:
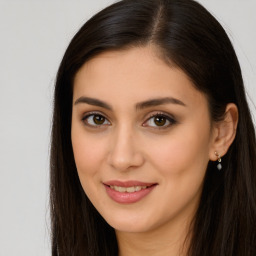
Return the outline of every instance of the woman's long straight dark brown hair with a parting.
{"type": "Polygon", "coordinates": [[[154,44],[181,68],[209,101],[212,120],[228,103],[239,110],[237,135],[223,170],[209,162],[193,221],[190,256],[256,255],[256,142],[240,66],[216,19],[192,0],[123,0],[78,31],[60,64],[54,95],[51,146],[53,256],[117,255],[115,232],[85,195],[71,145],[73,79],[93,56],[154,44]]]}

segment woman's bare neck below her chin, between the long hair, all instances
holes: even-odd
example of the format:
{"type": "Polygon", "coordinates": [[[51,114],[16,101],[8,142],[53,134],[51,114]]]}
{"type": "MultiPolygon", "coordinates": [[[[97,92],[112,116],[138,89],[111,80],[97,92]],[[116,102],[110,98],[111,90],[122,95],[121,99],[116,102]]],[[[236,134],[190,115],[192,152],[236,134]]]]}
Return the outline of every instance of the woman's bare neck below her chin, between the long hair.
{"type": "Polygon", "coordinates": [[[116,231],[119,256],[186,256],[190,242],[190,220],[165,223],[147,232],[116,231]]]}

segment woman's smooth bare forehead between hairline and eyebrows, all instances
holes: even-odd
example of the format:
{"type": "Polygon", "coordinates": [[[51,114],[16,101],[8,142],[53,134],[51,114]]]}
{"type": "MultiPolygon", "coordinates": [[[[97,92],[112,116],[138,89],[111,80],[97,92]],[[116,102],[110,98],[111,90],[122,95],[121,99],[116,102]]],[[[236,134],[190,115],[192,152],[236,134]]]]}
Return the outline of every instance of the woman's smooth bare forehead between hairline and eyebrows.
{"type": "Polygon", "coordinates": [[[156,97],[175,97],[186,105],[206,102],[189,77],[160,59],[156,48],[107,51],[86,62],[74,80],[74,99],[81,96],[124,104],[156,97]]]}

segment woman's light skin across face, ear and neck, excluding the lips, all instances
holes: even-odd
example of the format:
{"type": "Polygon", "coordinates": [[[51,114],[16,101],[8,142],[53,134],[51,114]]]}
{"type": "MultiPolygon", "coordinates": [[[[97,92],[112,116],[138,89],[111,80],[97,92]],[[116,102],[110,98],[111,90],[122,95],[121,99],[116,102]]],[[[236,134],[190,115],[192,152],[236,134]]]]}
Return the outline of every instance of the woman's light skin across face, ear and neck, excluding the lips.
{"type": "Polygon", "coordinates": [[[120,256],[186,255],[207,164],[235,137],[236,106],[228,104],[223,121],[213,122],[205,95],[156,52],[145,46],[102,53],[74,80],[71,138],[78,175],[116,230],[120,256]],[[110,180],[156,185],[124,204],[106,193],[110,180]]]}

